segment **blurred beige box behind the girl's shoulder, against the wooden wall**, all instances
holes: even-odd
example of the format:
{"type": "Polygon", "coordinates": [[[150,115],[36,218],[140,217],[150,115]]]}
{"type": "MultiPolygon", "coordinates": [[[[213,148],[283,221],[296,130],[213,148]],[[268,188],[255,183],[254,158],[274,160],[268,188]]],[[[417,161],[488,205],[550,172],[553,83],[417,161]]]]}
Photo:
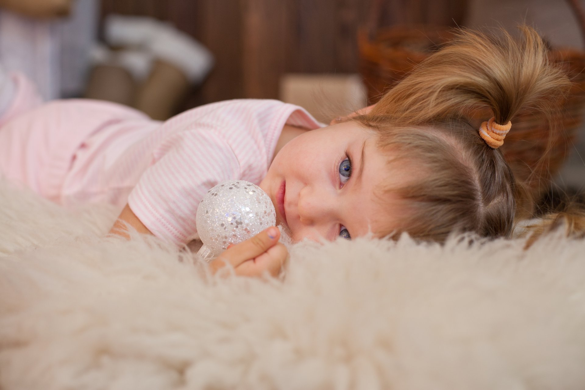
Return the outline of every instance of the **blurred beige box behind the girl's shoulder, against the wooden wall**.
{"type": "Polygon", "coordinates": [[[357,74],[285,74],[280,100],[304,107],[319,122],[329,123],[366,106],[366,88],[357,74]]]}

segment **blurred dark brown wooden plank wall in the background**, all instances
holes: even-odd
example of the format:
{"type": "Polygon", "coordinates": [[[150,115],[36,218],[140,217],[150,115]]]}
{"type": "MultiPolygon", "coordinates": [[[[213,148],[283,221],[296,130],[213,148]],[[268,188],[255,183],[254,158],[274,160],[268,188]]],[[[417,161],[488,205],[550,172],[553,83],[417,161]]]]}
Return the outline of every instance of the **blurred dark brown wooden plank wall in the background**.
{"type": "Polygon", "coordinates": [[[356,33],[381,24],[453,24],[466,0],[102,0],[102,14],[167,20],[214,53],[208,80],[187,106],[277,98],[283,73],[356,73],[356,33]]]}

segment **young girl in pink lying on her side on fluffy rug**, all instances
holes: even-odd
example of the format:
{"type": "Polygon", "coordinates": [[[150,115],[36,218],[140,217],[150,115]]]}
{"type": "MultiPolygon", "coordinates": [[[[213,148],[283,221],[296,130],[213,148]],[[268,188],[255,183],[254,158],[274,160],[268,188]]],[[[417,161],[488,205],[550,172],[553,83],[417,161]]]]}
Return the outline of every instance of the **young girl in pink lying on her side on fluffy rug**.
{"type": "MultiPolygon", "coordinates": [[[[164,123],[106,102],[31,109],[32,89],[16,75],[0,122],[0,168],[56,202],[119,205],[114,233],[127,223],[177,246],[196,237],[207,189],[235,178],[267,192],[294,240],[408,232],[442,241],[453,230],[505,237],[519,191],[498,147],[520,109],[552,111],[570,85],[538,34],[521,30],[519,42],[461,32],[373,108],[326,127],[277,101],[214,103],[164,123]],[[493,118],[470,124],[486,108],[493,118]]],[[[277,272],[287,255],[277,232],[231,247],[221,264],[277,272]]]]}

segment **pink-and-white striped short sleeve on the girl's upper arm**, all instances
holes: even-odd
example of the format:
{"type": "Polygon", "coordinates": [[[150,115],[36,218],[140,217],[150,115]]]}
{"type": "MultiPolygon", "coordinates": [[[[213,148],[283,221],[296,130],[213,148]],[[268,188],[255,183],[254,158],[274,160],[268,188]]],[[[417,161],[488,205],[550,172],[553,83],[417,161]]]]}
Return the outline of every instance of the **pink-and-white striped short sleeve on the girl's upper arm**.
{"type": "Polygon", "coordinates": [[[208,189],[239,176],[238,158],[217,134],[180,132],[154,151],[128,205],[155,236],[183,246],[197,233],[195,215],[208,189]]]}

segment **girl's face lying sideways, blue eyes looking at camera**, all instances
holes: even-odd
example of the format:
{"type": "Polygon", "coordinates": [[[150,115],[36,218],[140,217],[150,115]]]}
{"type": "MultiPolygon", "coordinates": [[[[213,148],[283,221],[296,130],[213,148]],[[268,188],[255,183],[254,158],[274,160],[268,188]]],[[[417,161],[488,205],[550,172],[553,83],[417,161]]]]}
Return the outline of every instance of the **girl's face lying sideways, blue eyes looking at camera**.
{"type": "Polygon", "coordinates": [[[363,236],[392,226],[392,199],[376,197],[388,173],[376,136],[353,122],[295,137],[278,151],[260,187],[272,199],[277,224],[291,238],[318,240],[363,236]]]}

